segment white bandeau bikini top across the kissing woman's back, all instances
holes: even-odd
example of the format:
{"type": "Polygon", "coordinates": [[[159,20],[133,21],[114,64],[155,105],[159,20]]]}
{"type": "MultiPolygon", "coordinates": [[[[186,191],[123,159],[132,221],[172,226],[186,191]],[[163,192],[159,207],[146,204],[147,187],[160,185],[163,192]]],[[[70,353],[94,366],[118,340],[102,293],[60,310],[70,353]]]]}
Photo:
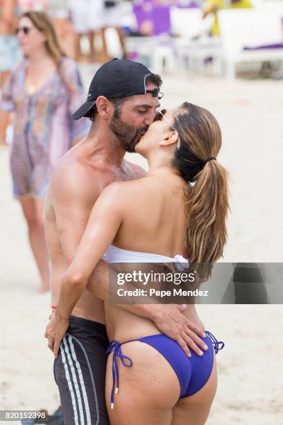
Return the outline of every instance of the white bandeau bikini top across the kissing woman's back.
{"type": "Polygon", "coordinates": [[[178,271],[187,269],[189,261],[183,256],[175,256],[174,258],[160,256],[148,252],[129,251],[110,245],[103,255],[103,260],[108,263],[174,263],[178,271]]]}

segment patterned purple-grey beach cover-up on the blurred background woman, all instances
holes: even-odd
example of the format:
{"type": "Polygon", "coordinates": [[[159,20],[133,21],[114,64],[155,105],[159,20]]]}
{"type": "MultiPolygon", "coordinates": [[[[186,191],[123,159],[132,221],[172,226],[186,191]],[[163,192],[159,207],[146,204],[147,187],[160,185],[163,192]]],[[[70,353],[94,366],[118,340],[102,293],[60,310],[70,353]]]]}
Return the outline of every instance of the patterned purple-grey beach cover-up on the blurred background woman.
{"type": "Polygon", "coordinates": [[[10,154],[14,196],[44,199],[54,167],[87,133],[86,118],[74,121],[71,114],[86,96],[74,60],[62,57],[58,70],[34,94],[24,89],[27,62],[23,60],[3,87],[0,107],[15,111],[15,127],[10,154]]]}

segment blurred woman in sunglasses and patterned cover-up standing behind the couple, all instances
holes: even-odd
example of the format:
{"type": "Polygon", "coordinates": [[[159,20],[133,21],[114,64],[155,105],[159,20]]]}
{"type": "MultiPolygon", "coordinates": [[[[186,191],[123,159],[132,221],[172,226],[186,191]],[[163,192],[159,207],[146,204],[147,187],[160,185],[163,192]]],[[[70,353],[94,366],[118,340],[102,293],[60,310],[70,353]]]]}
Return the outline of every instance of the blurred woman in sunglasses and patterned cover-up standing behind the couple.
{"type": "Polygon", "coordinates": [[[40,271],[42,292],[49,288],[43,208],[53,168],[87,132],[86,120],[71,113],[84,99],[78,68],[59,46],[45,12],[20,17],[17,37],[24,60],[3,88],[1,108],[15,111],[10,165],[14,196],[28,224],[31,248],[40,271]]]}

